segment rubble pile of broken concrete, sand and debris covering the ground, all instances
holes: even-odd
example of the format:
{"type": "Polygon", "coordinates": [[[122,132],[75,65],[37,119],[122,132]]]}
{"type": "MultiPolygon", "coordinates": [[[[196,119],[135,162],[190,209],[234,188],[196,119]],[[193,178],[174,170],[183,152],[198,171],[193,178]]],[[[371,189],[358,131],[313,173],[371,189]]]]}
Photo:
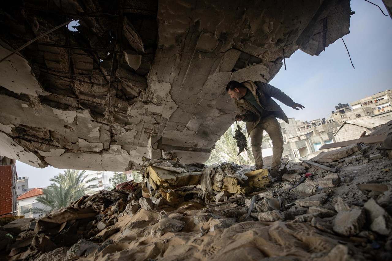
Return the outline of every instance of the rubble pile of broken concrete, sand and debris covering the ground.
{"type": "Polygon", "coordinates": [[[391,260],[388,155],[381,143],[354,144],[284,161],[276,178],[229,163],[145,159],[143,183],[3,225],[2,258],[391,260]]]}

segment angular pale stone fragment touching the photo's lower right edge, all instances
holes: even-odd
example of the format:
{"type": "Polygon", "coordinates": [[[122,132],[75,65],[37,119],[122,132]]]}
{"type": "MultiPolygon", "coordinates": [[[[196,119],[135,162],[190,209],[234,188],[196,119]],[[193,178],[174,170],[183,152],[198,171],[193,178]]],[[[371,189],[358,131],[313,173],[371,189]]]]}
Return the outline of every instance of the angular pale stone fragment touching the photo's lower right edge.
{"type": "Polygon", "coordinates": [[[392,218],[380,207],[374,199],[369,199],[365,205],[368,220],[370,221],[370,229],[381,235],[387,236],[391,232],[392,218]]]}

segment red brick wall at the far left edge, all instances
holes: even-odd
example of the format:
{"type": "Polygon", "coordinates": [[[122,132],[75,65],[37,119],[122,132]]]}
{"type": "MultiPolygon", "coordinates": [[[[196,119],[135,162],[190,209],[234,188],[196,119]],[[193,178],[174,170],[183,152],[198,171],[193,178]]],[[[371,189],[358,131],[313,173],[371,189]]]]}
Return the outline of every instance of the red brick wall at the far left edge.
{"type": "MultiPolygon", "coordinates": [[[[15,165],[0,166],[0,216],[17,210],[15,165]]],[[[13,216],[13,214],[5,215],[13,216]]]]}

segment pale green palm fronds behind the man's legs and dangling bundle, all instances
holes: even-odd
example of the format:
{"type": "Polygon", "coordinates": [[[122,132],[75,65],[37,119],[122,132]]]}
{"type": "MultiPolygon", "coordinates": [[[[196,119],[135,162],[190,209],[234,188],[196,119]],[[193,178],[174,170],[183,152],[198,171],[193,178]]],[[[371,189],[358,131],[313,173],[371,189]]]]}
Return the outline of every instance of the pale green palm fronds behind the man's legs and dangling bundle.
{"type": "MultiPolygon", "coordinates": [[[[247,138],[248,150],[243,151],[239,156],[237,156],[238,147],[236,140],[233,138],[237,126],[235,123],[233,123],[229,127],[229,129],[221,136],[221,138],[216,142],[215,149],[211,151],[210,158],[205,163],[206,165],[222,162],[236,163],[238,165],[254,164],[250,137],[245,127],[245,123],[240,121],[238,125],[240,125],[241,131],[245,134],[245,137],[247,138]]],[[[269,135],[266,132],[263,132],[263,142],[268,142],[269,140],[269,135]]]]}

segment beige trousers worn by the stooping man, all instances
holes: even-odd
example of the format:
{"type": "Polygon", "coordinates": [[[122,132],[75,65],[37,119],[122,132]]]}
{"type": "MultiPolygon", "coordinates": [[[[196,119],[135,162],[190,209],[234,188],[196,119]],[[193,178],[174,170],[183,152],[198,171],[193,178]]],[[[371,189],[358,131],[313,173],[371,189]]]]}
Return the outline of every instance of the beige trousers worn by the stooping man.
{"type": "Polygon", "coordinates": [[[263,131],[266,131],[272,140],[272,165],[271,169],[278,169],[283,154],[282,129],[275,116],[267,116],[260,120],[258,125],[250,132],[252,141],[252,152],[256,166],[263,167],[263,156],[261,155],[261,143],[263,142],[263,131]]]}

